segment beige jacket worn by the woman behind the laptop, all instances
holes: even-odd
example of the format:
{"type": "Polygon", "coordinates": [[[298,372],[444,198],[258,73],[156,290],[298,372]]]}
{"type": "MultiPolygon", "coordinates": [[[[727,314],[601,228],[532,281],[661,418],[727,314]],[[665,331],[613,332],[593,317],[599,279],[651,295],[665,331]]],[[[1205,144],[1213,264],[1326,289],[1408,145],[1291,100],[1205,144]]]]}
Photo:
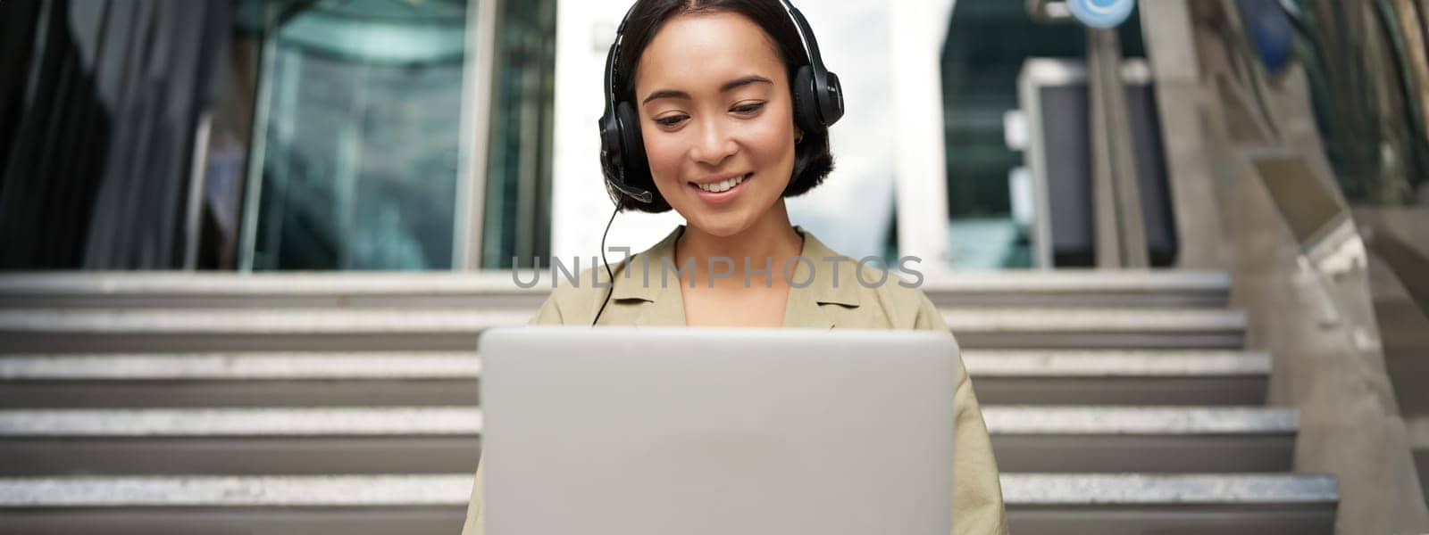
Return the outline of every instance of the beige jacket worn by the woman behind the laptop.
{"type": "MultiPolygon", "coordinates": [[[[859,284],[855,274],[856,260],[825,261],[825,257],[842,257],[829,250],[813,234],[795,227],[803,237],[805,258],[815,263],[795,264],[790,281],[812,284],[792,288],[785,308],[785,327],[803,328],[896,328],[932,330],[947,332],[943,317],[917,288],[903,288],[896,275],[890,274],[886,284],[873,288],[859,284]],[[837,263],[839,268],[833,270],[837,263]],[[837,271],[837,274],[835,274],[837,271]]],[[[610,304],[600,314],[600,325],[684,325],[684,302],[677,277],[669,270],[669,282],[660,284],[662,261],[674,263],[674,241],[684,227],[676,228],[669,237],[650,250],[612,265],[616,275],[610,304]],[[649,260],[649,263],[646,263],[649,260]],[[649,275],[649,278],[646,278],[649,275]],[[643,281],[649,280],[650,284],[643,281]]],[[[757,265],[756,265],[757,267],[757,265]]],[[[775,265],[779,275],[779,265],[775,265]]],[[[596,274],[600,281],[609,281],[604,268],[596,274]]],[[[542,325],[590,325],[606,298],[607,288],[590,284],[589,270],[580,275],[580,285],[572,287],[563,278],[560,287],[530,320],[542,325]]],[[[866,267],[863,281],[875,282],[882,275],[866,267]]],[[[872,285],[872,284],[870,284],[872,285]]],[[[1002,502],[1002,485],[997,479],[997,461],[992,454],[987,427],[983,424],[973,384],[957,361],[957,391],[953,394],[957,409],[956,437],[953,439],[953,535],[1006,534],[1007,516],[1002,502]]],[[[484,464],[484,462],[483,462],[484,464]]],[[[850,485],[857,484],[850,481],[850,485]]],[[[463,535],[483,535],[482,525],[482,469],[476,471],[472,486],[472,502],[467,506],[463,535]]]]}

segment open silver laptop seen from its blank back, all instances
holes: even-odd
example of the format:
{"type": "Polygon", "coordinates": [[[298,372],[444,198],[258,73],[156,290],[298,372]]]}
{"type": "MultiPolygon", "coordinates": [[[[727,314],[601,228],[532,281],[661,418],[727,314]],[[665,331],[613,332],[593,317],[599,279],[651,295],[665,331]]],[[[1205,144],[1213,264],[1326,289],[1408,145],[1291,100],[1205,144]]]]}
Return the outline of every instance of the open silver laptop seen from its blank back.
{"type": "Polygon", "coordinates": [[[956,351],[927,331],[487,331],[486,532],[946,535],[956,351]]]}

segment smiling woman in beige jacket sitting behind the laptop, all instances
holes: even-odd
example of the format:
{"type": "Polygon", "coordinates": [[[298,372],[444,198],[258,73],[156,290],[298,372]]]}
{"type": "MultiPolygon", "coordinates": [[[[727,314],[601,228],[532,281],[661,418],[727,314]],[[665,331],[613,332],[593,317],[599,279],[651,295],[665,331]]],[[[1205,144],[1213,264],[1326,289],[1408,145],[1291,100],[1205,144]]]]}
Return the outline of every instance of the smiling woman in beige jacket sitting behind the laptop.
{"type": "MultiPolygon", "coordinates": [[[[639,0],[612,50],[607,117],[627,103],[644,154],[624,151],[614,170],[606,154],[607,185],[617,210],[673,208],[687,225],[614,264],[609,288],[557,288],[532,322],[947,332],[920,290],[872,284],[883,274],[789,221],[785,198],[833,168],[826,126],[842,113],[842,98],[830,120],[827,101],[810,110],[792,91],[812,57],[780,0],[639,0]]],[[[962,362],[957,374],[953,531],[1003,534],[987,429],[962,362]]],[[[463,534],[482,529],[477,469],[463,534]]]]}

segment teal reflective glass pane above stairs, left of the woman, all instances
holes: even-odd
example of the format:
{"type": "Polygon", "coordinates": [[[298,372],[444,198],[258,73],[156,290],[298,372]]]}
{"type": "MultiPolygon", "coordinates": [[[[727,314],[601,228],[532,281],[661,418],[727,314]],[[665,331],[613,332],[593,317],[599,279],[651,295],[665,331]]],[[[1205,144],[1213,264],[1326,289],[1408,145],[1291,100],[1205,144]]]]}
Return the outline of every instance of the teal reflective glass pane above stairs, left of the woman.
{"type": "Polygon", "coordinates": [[[254,270],[452,268],[466,24],[320,0],[272,33],[254,270]]]}

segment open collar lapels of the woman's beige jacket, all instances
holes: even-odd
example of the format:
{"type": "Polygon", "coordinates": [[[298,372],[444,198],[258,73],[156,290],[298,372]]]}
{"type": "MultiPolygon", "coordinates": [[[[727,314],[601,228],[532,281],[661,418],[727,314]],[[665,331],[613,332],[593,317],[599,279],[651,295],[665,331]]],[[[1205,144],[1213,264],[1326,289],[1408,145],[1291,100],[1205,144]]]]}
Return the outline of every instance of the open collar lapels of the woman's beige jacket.
{"type": "MultiPolygon", "coordinates": [[[[860,305],[859,281],[853,272],[856,261],[835,253],[802,227],[796,225],[795,231],[805,238],[800,257],[806,261],[796,264],[790,281],[797,284],[809,281],[809,284],[803,288],[789,290],[785,327],[835,327],[835,317],[823,310],[825,305],[850,308],[860,305]],[[835,263],[839,264],[837,268],[833,267],[835,263]]],[[[610,298],[612,301],[642,302],[634,320],[636,325],[684,325],[684,298],[673,270],[677,265],[674,244],[683,233],[684,225],[676,227],[664,240],[616,267],[616,281],[610,298]],[[662,268],[662,265],[670,268],[662,268]]],[[[782,267],[775,265],[775,270],[782,270],[782,267]]]]}

